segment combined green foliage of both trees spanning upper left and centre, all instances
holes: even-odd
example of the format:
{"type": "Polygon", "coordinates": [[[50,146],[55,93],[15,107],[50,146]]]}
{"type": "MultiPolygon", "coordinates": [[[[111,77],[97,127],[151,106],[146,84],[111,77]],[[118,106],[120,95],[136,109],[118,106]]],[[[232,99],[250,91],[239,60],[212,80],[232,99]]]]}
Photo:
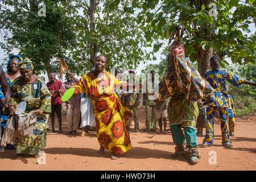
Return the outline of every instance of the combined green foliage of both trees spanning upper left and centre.
{"type": "MultiPolygon", "coordinates": [[[[3,37],[1,47],[8,53],[20,49],[20,54],[36,63],[38,73],[56,71],[59,64],[49,64],[55,56],[67,57],[70,69],[77,74],[88,71],[92,55],[98,53],[108,57],[108,71],[136,68],[154,58],[143,49],[151,44],[145,38],[146,27],[137,23],[135,11],[141,9],[140,1],[94,2],[92,13],[90,3],[83,0],[3,0],[0,27],[11,35],[3,37]],[[46,4],[46,17],[38,16],[39,2],[46,4]]],[[[155,51],[159,47],[156,45],[155,51]]]]}

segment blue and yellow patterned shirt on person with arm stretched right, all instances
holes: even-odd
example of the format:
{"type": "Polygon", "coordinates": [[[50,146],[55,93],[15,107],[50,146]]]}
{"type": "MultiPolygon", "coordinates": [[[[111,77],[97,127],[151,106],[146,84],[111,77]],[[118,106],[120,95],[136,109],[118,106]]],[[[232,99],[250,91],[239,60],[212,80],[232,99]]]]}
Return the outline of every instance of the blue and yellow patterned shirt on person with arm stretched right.
{"type": "Polygon", "coordinates": [[[209,69],[204,74],[205,80],[207,80],[212,86],[215,92],[215,102],[212,106],[216,107],[229,107],[228,105],[228,92],[226,90],[226,81],[230,82],[234,86],[240,86],[244,78],[228,71],[225,68],[209,69]]]}

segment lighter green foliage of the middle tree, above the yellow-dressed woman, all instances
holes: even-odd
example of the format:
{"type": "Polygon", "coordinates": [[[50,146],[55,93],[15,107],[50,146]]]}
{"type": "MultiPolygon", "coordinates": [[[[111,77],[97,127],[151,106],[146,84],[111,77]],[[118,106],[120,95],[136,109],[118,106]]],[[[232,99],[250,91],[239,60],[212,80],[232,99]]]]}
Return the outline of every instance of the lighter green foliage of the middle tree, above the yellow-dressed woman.
{"type": "MultiPolygon", "coordinates": [[[[97,2],[97,1],[96,1],[97,2]]],[[[96,6],[95,27],[90,19],[89,4],[86,1],[73,1],[72,7],[80,7],[84,14],[74,12],[74,31],[77,34],[76,45],[71,50],[73,60],[90,60],[92,53],[101,53],[108,57],[108,67],[131,69],[146,60],[151,53],[144,51],[148,47],[146,27],[138,24],[135,11],[140,1],[106,0],[96,6]]],[[[72,8],[71,7],[71,8],[72,8]]],[[[157,48],[157,47],[156,47],[157,48]]]]}

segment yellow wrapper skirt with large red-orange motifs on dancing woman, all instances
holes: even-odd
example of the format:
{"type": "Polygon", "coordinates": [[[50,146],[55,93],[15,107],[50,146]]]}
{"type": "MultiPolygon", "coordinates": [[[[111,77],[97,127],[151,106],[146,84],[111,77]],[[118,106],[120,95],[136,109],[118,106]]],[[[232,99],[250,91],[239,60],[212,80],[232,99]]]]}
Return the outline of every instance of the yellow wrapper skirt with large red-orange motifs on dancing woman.
{"type": "Polygon", "coordinates": [[[100,145],[114,154],[131,150],[128,121],[131,112],[116,93],[92,100],[96,120],[97,138],[100,145]]]}

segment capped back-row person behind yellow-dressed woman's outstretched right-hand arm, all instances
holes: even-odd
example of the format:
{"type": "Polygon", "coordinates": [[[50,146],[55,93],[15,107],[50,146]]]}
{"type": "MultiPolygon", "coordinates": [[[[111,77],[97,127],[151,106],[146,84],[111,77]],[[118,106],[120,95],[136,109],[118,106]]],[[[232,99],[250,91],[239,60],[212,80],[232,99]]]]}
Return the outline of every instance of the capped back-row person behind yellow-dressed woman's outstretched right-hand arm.
{"type": "MultiPolygon", "coordinates": [[[[131,84],[135,84],[135,78],[134,78],[134,70],[129,70],[129,80],[133,80],[131,84]]],[[[129,82],[127,80],[127,82],[129,82]]],[[[139,131],[139,122],[138,122],[138,106],[139,106],[139,90],[135,90],[134,88],[127,88],[127,92],[123,92],[123,101],[125,105],[133,111],[134,116],[134,131],[139,131]]],[[[130,123],[129,123],[129,129],[130,129],[130,123]]]]}

